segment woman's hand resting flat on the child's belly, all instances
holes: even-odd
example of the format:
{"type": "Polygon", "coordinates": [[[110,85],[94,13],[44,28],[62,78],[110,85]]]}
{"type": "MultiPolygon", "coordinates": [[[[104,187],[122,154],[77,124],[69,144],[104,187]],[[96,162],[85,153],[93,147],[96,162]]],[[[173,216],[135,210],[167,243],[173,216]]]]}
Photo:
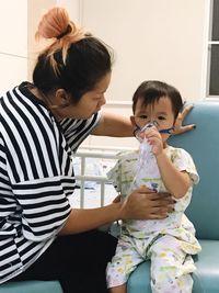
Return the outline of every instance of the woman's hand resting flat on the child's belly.
{"type": "Polygon", "coordinates": [[[169,193],[157,193],[146,187],[134,191],[124,200],[122,219],[164,218],[174,210],[175,201],[169,193]]]}

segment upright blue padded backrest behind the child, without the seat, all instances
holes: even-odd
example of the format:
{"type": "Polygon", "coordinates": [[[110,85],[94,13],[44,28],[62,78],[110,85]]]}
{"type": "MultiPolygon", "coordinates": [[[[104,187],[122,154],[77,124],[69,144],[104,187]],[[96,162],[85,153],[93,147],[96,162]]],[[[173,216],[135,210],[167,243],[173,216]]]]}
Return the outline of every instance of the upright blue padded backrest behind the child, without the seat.
{"type": "Polygon", "coordinates": [[[194,103],[185,124],[195,131],[175,135],[170,145],[186,149],[200,176],[194,187],[186,215],[194,223],[199,239],[219,239],[219,103],[194,103]]]}

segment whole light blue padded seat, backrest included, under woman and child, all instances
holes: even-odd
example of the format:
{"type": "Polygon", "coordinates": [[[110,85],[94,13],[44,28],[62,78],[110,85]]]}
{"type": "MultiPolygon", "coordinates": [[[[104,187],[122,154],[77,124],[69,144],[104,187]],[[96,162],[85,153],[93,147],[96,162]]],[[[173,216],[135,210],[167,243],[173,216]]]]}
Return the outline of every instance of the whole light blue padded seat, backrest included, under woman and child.
{"type": "MultiPolygon", "coordinates": [[[[194,158],[200,182],[194,188],[186,211],[194,223],[203,247],[195,257],[197,271],[193,274],[193,293],[219,292],[219,103],[199,102],[186,117],[185,124],[197,128],[171,138],[170,144],[185,148],[194,158]]],[[[61,293],[59,282],[9,282],[0,293],[61,293]]],[[[150,261],[141,263],[128,280],[128,293],[151,293],[150,261]]]]}

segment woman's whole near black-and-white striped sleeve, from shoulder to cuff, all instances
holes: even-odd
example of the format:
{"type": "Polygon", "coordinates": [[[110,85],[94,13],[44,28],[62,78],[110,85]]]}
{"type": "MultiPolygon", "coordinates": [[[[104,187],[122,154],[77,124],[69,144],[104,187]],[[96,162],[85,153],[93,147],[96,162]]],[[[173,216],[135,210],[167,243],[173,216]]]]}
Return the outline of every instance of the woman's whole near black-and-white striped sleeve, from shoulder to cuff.
{"type": "Polygon", "coordinates": [[[34,241],[48,239],[71,210],[74,176],[68,146],[48,111],[16,88],[1,100],[0,113],[0,168],[20,206],[22,232],[34,241]]]}

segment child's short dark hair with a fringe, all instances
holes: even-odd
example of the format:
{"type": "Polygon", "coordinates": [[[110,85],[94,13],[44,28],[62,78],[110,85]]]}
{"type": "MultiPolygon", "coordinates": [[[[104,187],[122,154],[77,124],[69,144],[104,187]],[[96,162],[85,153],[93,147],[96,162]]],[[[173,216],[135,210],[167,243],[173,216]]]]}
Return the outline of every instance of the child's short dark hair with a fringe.
{"type": "Polygon", "coordinates": [[[143,81],[137,88],[132,97],[132,112],[135,113],[136,104],[139,99],[141,100],[142,105],[147,106],[149,104],[154,105],[154,103],[163,97],[170,99],[174,117],[176,119],[183,108],[181,93],[174,87],[159,80],[143,81]]]}

